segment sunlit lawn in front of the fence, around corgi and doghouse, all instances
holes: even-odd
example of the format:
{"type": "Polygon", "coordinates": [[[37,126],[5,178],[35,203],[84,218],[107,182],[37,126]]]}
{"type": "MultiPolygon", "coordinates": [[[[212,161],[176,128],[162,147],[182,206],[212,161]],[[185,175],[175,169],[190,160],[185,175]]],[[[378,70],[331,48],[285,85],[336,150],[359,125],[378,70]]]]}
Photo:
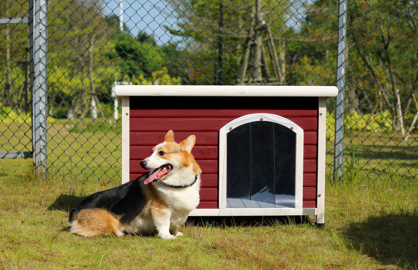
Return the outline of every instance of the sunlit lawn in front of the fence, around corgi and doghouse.
{"type": "Polygon", "coordinates": [[[0,160],[0,269],[417,269],[418,186],[354,176],[326,185],[314,217],[190,218],[174,241],[80,237],[68,214],[109,183],[41,180],[29,161],[0,160]],[[23,162],[22,162],[23,161],[23,162]]]}

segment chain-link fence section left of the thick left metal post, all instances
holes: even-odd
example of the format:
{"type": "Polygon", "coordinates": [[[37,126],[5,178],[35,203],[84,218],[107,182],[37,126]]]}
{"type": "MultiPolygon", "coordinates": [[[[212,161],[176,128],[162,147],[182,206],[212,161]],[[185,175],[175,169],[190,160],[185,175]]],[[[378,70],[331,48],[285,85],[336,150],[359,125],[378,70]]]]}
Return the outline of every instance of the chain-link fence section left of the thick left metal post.
{"type": "Polygon", "coordinates": [[[32,157],[28,14],[27,1],[0,2],[1,158],[32,157]]]}

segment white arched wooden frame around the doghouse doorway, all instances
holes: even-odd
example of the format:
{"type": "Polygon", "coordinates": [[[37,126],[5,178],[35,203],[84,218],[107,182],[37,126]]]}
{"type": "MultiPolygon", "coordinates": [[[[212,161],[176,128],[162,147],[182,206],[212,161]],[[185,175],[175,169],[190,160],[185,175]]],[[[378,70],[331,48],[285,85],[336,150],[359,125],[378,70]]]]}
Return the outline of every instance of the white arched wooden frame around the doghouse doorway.
{"type": "MultiPolygon", "coordinates": [[[[241,116],[237,119],[232,120],[219,130],[219,162],[218,162],[218,188],[219,188],[219,209],[238,209],[238,208],[226,208],[227,207],[227,133],[238,126],[241,126],[246,123],[253,121],[260,121],[263,118],[263,121],[269,121],[273,123],[278,123],[280,125],[286,126],[288,129],[291,129],[296,133],[296,172],[295,172],[295,199],[296,205],[295,208],[301,209],[303,202],[303,129],[297,124],[293,123],[289,119],[286,119],[282,116],[275,114],[248,114],[241,116]],[[232,129],[230,129],[232,127],[232,129]]],[[[293,209],[287,208],[286,209],[293,209]]],[[[240,208],[239,208],[240,209],[240,208]]],[[[252,209],[252,208],[248,208],[252,209]]],[[[259,209],[259,208],[254,208],[259,209]]],[[[264,208],[263,208],[264,209],[264,208]]],[[[266,208],[270,209],[270,208],[266,208]]],[[[257,210],[258,211],[258,210],[257,210]]],[[[246,210],[246,212],[248,212],[246,210]]],[[[248,214],[251,215],[251,214],[248,214]]],[[[256,215],[256,214],[255,214],[256,215]]]]}

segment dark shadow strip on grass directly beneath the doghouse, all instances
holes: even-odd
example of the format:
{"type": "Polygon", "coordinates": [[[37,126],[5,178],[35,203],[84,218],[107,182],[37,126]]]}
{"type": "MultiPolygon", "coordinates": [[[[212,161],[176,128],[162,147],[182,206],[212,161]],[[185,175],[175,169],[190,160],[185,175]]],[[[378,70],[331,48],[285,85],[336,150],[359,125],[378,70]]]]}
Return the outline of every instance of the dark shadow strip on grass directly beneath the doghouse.
{"type": "Polygon", "coordinates": [[[277,224],[312,224],[308,216],[254,216],[254,217],[189,217],[186,226],[234,227],[272,226],[277,224]]]}

